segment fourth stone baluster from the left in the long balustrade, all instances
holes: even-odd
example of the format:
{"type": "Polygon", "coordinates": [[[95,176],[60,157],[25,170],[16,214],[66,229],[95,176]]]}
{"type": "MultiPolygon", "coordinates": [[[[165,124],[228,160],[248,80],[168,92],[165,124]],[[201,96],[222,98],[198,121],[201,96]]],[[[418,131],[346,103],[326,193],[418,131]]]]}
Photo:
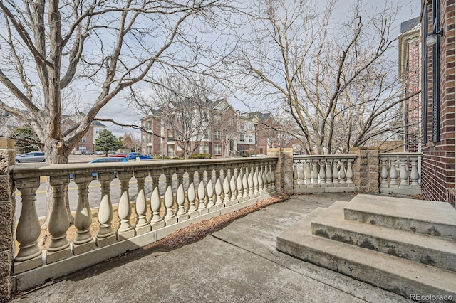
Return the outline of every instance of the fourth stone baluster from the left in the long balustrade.
{"type": "Polygon", "coordinates": [[[113,174],[98,173],[97,178],[101,185],[101,199],[100,207],[98,208],[100,230],[98,230],[95,242],[98,248],[103,248],[103,246],[111,245],[117,241],[111,225],[113,220],[113,203],[111,203],[110,197],[110,184],[113,181],[113,174]]]}

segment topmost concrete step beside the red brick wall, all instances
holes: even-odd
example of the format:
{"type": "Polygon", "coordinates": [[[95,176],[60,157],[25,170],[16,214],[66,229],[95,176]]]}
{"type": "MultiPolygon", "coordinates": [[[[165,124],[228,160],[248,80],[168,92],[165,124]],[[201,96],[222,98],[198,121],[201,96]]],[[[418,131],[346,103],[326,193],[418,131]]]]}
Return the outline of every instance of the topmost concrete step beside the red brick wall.
{"type": "Polygon", "coordinates": [[[445,202],[359,194],[345,207],[346,220],[456,240],[456,210],[445,202]]]}

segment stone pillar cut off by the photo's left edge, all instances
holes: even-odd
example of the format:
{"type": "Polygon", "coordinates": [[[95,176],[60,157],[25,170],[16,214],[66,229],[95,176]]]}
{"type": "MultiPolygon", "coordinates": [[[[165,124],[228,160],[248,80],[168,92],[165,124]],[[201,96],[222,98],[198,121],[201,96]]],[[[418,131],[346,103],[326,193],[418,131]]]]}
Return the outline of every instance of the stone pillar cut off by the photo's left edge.
{"type": "Polygon", "coordinates": [[[11,294],[11,268],[14,256],[14,182],[9,174],[15,164],[14,140],[0,137],[0,301],[11,294]]]}

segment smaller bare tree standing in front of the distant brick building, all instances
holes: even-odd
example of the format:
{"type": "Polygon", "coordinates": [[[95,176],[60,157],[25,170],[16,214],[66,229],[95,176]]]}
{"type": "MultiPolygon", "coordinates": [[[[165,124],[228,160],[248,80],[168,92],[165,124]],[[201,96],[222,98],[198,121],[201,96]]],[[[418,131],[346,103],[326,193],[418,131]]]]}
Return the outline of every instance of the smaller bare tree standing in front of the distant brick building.
{"type": "Polygon", "coordinates": [[[215,85],[206,77],[170,73],[151,85],[150,96],[132,95],[132,103],[138,110],[162,120],[161,137],[174,141],[175,154],[187,159],[201,142],[211,138],[214,101],[208,97],[215,96],[215,85]]]}

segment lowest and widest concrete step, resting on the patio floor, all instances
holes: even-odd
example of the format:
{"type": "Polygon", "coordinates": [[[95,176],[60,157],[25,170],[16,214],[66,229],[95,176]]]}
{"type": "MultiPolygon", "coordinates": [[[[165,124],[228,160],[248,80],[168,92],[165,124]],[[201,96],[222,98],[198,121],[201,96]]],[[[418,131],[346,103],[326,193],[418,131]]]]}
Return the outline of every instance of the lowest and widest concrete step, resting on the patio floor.
{"type": "Polygon", "coordinates": [[[313,212],[281,233],[277,250],[411,299],[414,294],[456,299],[456,272],[312,235],[311,220],[323,216],[324,209],[313,212]]]}

